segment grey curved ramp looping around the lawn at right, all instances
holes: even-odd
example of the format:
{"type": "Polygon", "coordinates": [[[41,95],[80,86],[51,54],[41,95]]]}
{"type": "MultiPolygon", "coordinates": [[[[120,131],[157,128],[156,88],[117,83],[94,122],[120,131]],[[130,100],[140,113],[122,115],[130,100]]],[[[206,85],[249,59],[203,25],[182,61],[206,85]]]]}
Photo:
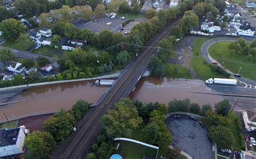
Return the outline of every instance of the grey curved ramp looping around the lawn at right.
{"type": "MultiPolygon", "coordinates": [[[[217,42],[225,42],[225,41],[237,41],[238,38],[228,38],[228,37],[225,37],[225,38],[214,38],[214,39],[210,39],[208,41],[206,41],[202,46],[201,46],[201,52],[203,54],[203,57],[208,61],[208,63],[211,63],[212,64],[212,61],[215,61],[211,56],[210,54],[208,53],[208,49],[209,47],[214,44],[214,43],[217,43],[217,42]]],[[[219,64],[220,65],[220,64],[219,64]]],[[[240,80],[242,82],[246,82],[247,84],[250,84],[250,85],[253,85],[253,86],[256,86],[256,82],[253,81],[253,80],[250,80],[250,79],[247,79],[247,78],[244,78],[244,77],[240,77],[240,78],[237,78],[234,76],[234,73],[227,70],[226,71],[228,73],[231,74],[231,77],[237,79],[237,80],[240,80]]]]}

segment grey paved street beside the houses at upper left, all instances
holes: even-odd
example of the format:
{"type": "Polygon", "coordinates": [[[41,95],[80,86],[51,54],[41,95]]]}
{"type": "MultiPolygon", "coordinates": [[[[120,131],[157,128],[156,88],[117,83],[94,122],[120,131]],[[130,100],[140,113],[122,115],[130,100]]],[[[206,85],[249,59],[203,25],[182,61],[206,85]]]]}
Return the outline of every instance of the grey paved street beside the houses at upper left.
{"type": "MultiPolygon", "coordinates": [[[[4,48],[3,46],[0,46],[0,49],[4,48]]],[[[42,54],[36,54],[36,53],[31,53],[29,51],[20,51],[20,50],[15,50],[11,49],[12,52],[14,52],[16,58],[24,58],[24,59],[30,59],[30,60],[35,60],[38,57],[45,57],[49,59],[52,67],[58,68],[59,65],[57,64],[57,61],[55,58],[49,57],[49,56],[44,56],[42,54]]]]}

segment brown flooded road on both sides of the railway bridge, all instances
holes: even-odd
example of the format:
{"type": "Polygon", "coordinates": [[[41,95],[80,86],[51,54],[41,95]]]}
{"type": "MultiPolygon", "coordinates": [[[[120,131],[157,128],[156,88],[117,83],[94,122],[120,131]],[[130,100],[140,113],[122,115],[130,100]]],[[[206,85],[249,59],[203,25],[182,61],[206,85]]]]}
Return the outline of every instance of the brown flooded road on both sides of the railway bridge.
{"type": "MultiPolygon", "coordinates": [[[[67,82],[63,84],[44,85],[27,89],[22,94],[10,99],[11,101],[28,100],[12,103],[0,107],[0,122],[5,121],[4,112],[9,119],[54,112],[60,108],[70,109],[79,98],[89,103],[96,103],[109,86],[92,86],[93,81],[67,82]]],[[[135,91],[130,98],[139,99],[143,102],[158,101],[168,103],[170,100],[183,100],[189,98],[191,102],[204,105],[210,103],[212,106],[223,100],[219,95],[188,93],[211,92],[211,88],[205,86],[203,81],[177,81],[160,79],[154,77],[141,78],[135,91]]]]}

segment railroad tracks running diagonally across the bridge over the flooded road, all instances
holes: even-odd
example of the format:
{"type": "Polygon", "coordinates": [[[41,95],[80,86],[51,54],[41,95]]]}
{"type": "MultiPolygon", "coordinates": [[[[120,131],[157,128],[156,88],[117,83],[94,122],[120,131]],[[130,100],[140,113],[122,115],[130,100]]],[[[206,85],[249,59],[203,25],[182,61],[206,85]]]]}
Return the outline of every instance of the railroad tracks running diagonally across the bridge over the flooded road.
{"type": "MultiPolygon", "coordinates": [[[[162,38],[169,36],[171,27],[178,24],[178,20],[174,20],[173,24],[169,25],[164,31],[162,31],[158,37],[156,37],[150,46],[156,46],[158,41],[162,38]]],[[[116,103],[120,97],[127,96],[130,94],[131,89],[136,84],[134,83],[134,79],[139,80],[140,75],[143,74],[143,70],[139,69],[145,65],[148,58],[152,56],[152,54],[156,51],[153,47],[148,47],[147,49],[142,50],[137,59],[134,61],[134,64],[125,70],[122,75],[117,79],[116,83],[111,86],[111,88],[104,94],[102,101],[99,102],[97,109],[87,122],[84,124],[82,129],[79,130],[75,139],[70,143],[69,147],[64,150],[64,153],[60,158],[78,158],[80,154],[83,152],[84,147],[87,145],[91,145],[90,138],[95,135],[94,132],[97,129],[100,129],[100,119],[106,113],[107,109],[113,107],[114,103],[116,103]],[[126,88],[131,88],[129,91],[126,88]]],[[[135,81],[135,82],[136,82],[135,81]]],[[[138,81],[137,81],[138,82],[138,81]]],[[[59,157],[59,156],[58,156],[59,157]]]]}

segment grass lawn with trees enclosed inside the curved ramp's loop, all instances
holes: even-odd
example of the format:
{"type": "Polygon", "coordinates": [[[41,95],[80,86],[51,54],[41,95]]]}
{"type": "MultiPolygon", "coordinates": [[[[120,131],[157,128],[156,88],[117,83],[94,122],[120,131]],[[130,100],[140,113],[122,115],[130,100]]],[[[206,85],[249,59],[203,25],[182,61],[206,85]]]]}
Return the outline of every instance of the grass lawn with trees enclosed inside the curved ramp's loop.
{"type": "Polygon", "coordinates": [[[239,67],[242,67],[239,74],[241,74],[242,77],[255,81],[256,80],[256,74],[255,74],[256,63],[252,63],[251,61],[248,61],[244,54],[239,54],[239,55],[235,54],[234,56],[231,56],[227,48],[227,45],[230,43],[231,42],[218,42],[218,43],[212,44],[209,47],[209,53],[211,57],[216,59],[219,63],[222,63],[224,59],[225,61],[224,67],[233,73],[238,73],[239,67]]]}

